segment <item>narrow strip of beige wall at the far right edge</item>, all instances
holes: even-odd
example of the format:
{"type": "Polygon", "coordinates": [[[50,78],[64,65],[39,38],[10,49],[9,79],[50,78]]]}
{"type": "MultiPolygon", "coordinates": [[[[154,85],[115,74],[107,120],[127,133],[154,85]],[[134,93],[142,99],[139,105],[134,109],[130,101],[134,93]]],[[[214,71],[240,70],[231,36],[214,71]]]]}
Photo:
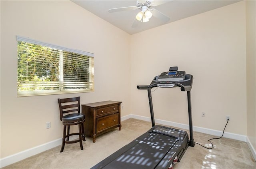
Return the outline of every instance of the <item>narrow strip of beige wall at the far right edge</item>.
{"type": "Polygon", "coordinates": [[[256,149],[256,1],[246,1],[247,137],[256,149]]]}

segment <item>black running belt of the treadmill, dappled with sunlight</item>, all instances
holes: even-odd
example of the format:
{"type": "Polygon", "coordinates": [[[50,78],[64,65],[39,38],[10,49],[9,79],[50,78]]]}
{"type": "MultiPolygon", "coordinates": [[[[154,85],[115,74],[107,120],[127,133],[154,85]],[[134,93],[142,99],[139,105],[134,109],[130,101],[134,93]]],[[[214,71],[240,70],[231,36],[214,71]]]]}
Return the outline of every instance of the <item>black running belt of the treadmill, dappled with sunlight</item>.
{"type": "Polygon", "coordinates": [[[155,168],[178,139],[152,132],[138,144],[104,166],[104,169],[155,168]]]}

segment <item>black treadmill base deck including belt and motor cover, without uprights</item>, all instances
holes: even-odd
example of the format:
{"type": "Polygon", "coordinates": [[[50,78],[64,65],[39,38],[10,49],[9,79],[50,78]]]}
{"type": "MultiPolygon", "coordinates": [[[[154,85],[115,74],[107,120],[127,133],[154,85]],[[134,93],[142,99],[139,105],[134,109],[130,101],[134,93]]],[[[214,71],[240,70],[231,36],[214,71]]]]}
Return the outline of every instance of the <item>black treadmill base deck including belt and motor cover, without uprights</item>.
{"type": "Polygon", "coordinates": [[[186,131],[155,125],[92,169],[168,169],[188,147],[186,131]]]}

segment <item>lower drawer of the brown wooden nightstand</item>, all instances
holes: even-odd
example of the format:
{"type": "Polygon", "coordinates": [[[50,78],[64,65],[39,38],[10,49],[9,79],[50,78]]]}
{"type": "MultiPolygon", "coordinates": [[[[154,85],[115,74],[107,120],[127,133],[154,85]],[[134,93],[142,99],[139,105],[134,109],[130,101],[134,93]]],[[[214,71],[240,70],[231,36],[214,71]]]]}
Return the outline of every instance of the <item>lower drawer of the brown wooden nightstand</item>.
{"type": "Polygon", "coordinates": [[[108,115],[105,117],[98,118],[96,121],[96,133],[113,127],[114,125],[118,125],[118,115],[119,113],[108,115]]]}

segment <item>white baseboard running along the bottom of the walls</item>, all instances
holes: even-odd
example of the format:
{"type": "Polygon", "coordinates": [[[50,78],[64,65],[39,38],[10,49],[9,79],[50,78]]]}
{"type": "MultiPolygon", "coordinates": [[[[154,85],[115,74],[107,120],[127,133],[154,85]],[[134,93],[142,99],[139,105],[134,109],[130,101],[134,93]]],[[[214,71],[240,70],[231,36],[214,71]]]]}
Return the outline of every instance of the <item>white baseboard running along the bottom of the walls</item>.
{"type": "MultiPolygon", "coordinates": [[[[150,117],[144,117],[144,116],[134,115],[134,114],[123,116],[121,118],[121,121],[129,119],[129,118],[140,119],[140,120],[144,120],[144,121],[151,121],[150,117]]],[[[155,122],[158,123],[158,124],[162,124],[162,125],[170,125],[170,126],[173,126],[173,127],[178,127],[178,128],[181,128],[181,129],[189,129],[188,125],[186,125],[186,124],[175,123],[175,122],[172,122],[172,121],[155,119],[155,122]]],[[[201,133],[211,134],[211,135],[217,135],[217,136],[222,135],[222,131],[206,129],[206,128],[202,128],[202,127],[194,126],[193,130],[201,132],[201,133]]],[[[247,139],[246,135],[238,135],[238,134],[234,134],[234,133],[224,132],[223,137],[247,142],[248,146],[250,147],[250,150],[252,151],[254,159],[256,159],[256,151],[255,151],[254,147],[252,146],[252,144],[250,143],[250,140],[247,139]]],[[[56,147],[58,145],[61,145],[61,144],[62,144],[62,138],[56,139],[54,141],[50,141],[48,143],[44,143],[42,145],[38,145],[38,146],[33,147],[31,149],[27,149],[25,151],[21,151],[19,153],[16,153],[16,154],[13,154],[13,155],[10,155],[10,156],[7,156],[7,157],[4,157],[4,158],[0,159],[0,168],[5,167],[5,166],[10,165],[10,164],[13,164],[13,163],[16,163],[20,160],[26,159],[28,157],[31,157],[33,155],[36,155],[36,154],[41,153],[43,151],[46,151],[48,149],[54,148],[54,147],[56,147]]]]}

